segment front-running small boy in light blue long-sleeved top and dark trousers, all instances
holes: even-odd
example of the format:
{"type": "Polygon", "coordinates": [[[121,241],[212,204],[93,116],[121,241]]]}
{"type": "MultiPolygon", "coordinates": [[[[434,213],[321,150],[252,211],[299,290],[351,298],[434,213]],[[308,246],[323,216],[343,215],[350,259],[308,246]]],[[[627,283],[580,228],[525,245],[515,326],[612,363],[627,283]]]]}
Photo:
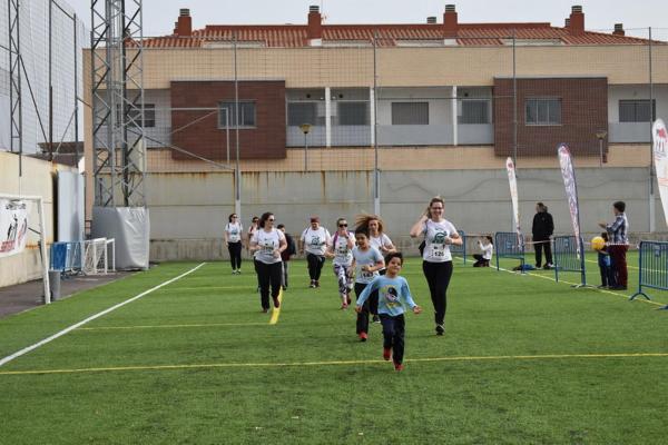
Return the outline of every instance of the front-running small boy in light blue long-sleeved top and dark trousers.
{"type": "Polygon", "coordinates": [[[385,257],[386,274],[374,278],[362,291],[357,299],[355,310],[362,313],[364,304],[374,291],[379,293],[379,315],[383,325],[383,358],[394,362],[394,369],[403,369],[404,356],[404,306],[409,306],[413,314],[420,314],[422,308],[413,301],[409,283],[399,273],[403,266],[403,256],[393,251],[385,257]]]}

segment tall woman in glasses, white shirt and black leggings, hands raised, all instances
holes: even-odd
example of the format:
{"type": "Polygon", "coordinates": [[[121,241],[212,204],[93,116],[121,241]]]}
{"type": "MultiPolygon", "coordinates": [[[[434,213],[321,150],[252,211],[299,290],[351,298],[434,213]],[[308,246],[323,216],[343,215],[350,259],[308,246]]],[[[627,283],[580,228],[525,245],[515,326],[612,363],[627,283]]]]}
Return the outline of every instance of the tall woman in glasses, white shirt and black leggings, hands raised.
{"type": "Polygon", "coordinates": [[[422,270],[434,305],[436,335],[445,333],[446,293],[452,277],[450,245],[462,245],[462,238],[454,225],[443,218],[443,199],[441,197],[432,198],[425,212],[411,228],[412,238],[424,237],[422,270]]]}

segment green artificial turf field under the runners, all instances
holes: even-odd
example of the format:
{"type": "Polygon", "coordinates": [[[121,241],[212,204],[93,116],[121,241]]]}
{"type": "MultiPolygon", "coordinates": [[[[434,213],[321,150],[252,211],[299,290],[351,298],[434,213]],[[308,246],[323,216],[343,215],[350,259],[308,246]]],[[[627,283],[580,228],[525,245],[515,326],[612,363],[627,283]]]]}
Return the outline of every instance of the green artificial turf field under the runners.
{"type": "MultiPolygon", "coordinates": [[[[196,266],[1,319],[0,359],[196,266]]],[[[628,301],[635,268],[621,294],[470,266],[455,259],[436,337],[420,261],[406,261],[425,310],[406,316],[396,373],[380,325],[357,340],[330,261],[318,289],[292,263],[279,314],[261,313],[249,263],[240,276],[208,263],[1,366],[0,443],[666,443],[668,293],[628,301]]]]}

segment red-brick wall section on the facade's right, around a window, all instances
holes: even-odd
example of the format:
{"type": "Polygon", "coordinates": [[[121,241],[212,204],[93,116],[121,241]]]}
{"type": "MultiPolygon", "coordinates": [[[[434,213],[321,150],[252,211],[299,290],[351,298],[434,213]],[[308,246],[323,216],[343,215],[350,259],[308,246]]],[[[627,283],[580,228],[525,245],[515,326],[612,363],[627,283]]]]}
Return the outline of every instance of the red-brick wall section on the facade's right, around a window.
{"type": "MultiPolygon", "coordinates": [[[[596,134],[608,130],[608,80],[606,78],[518,79],[518,156],[556,156],[566,142],[573,155],[598,155],[596,134]],[[561,98],[561,125],[528,126],[525,99],[561,98]]],[[[494,79],[494,152],[513,151],[512,79],[494,79]]],[[[607,140],[603,151],[607,152],[607,140]]]]}

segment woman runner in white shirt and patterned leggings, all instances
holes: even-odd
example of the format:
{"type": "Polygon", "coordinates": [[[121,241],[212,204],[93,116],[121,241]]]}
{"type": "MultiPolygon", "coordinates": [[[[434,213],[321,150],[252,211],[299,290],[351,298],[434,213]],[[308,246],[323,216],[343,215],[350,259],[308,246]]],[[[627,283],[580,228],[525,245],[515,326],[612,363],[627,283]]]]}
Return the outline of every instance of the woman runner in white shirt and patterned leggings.
{"type": "Polygon", "coordinates": [[[332,244],[327,248],[327,257],[334,258],[334,275],[338,281],[338,295],[341,296],[341,308],[347,309],[351,304],[353,291],[353,247],[355,247],[355,235],[347,231],[345,218],[336,220],[337,230],[332,237],[332,244]]]}

